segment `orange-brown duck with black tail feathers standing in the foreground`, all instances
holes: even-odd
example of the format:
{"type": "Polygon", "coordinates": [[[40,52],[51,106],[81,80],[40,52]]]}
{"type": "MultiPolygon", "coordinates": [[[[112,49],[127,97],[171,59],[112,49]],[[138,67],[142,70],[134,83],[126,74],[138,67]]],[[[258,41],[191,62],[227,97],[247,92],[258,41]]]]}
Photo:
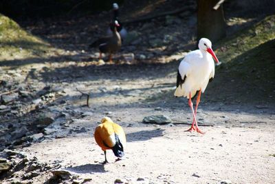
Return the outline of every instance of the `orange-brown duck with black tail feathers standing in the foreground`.
{"type": "Polygon", "coordinates": [[[108,163],[106,150],[113,150],[113,154],[118,158],[124,156],[125,133],[122,127],[113,123],[109,117],[104,117],[101,124],[96,127],[94,138],[104,152],[105,161],[103,163],[108,163]]]}

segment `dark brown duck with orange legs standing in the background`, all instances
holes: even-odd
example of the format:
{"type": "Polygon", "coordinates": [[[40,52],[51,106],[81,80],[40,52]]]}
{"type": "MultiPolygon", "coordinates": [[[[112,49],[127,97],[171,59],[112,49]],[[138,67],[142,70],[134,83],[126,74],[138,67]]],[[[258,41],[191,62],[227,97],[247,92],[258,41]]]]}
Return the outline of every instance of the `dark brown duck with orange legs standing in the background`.
{"type": "Polygon", "coordinates": [[[89,45],[89,48],[99,48],[99,59],[102,59],[102,53],[109,53],[109,62],[113,63],[112,54],[118,52],[118,50],[121,48],[121,38],[120,34],[118,33],[119,26],[120,24],[118,21],[113,21],[113,23],[110,24],[112,32],[111,36],[101,37],[89,45]]]}

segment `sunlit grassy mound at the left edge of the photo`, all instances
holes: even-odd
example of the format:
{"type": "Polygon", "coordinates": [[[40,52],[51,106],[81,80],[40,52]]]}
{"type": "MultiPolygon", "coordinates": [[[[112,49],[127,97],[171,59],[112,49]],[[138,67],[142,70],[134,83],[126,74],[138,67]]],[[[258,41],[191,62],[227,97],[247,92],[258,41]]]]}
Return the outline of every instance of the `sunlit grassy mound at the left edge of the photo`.
{"type": "Polygon", "coordinates": [[[49,43],[0,14],[0,61],[44,57],[51,49],[49,43]]]}

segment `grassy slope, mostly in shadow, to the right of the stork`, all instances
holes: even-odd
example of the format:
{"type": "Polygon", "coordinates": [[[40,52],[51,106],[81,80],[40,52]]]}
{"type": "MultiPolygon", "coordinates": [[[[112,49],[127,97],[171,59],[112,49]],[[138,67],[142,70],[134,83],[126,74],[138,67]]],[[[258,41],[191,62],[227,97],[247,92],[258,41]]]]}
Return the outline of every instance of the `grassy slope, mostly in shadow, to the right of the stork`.
{"type": "Polygon", "coordinates": [[[275,15],[219,45],[217,57],[223,63],[216,67],[215,79],[206,91],[209,99],[274,105],[275,15]]]}

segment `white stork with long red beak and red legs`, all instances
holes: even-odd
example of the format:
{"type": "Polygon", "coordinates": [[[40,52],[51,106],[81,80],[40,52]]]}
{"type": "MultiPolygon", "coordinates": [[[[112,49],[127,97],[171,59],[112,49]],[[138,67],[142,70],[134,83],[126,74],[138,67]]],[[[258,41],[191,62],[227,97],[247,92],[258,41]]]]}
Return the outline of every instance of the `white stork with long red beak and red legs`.
{"type": "Polygon", "coordinates": [[[197,107],[201,98],[201,92],[206,90],[208,82],[214,78],[214,58],[217,63],[219,60],[212,50],[212,43],[209,39],[199,40],[199,50],[189,52],[186,57],[179,64],[179,70],[177,71],[177,89],[175,90],[175,96],[184,96],[188,100],[188,105],[192,110],[193,121],[190,129],[203,134],[197,125],[197,107]],[[196,108],[194,111],[192,97],[197,92],[196,108]]]}

